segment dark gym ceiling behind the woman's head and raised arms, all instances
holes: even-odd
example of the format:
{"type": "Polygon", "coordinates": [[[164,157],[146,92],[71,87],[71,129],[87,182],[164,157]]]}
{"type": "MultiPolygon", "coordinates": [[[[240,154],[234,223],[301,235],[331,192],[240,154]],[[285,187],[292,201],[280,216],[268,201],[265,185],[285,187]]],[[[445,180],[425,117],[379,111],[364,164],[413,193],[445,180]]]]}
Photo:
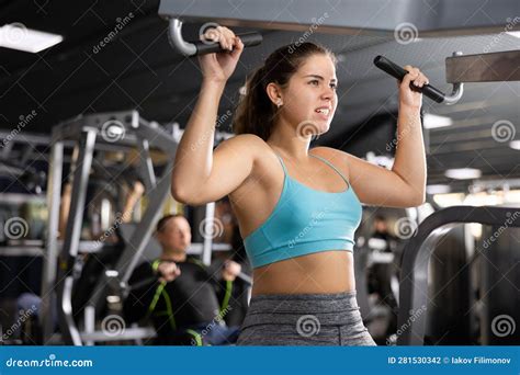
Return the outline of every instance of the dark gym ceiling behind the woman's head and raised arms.
{"type": "MultiPolygon", "coordinates": [[[[186,123],[201,83],[196,59],[184,58],[168,43],[168,23],[157,14],[159,1],[0,0],[0,25],[24,26],[64,35],[59,45],[38,54],[0,48],[0,127],[10,132],[21,116],[37,115],[23,134],[50,134],[60,121],[78,114],[135,109],[161,124],[186,123]],[[99,43],[132,12],[129,22],[104,47],[99,43]],[[99,50],[98,50],[99,49],[99,50]]],[[[324,2],[327,8],[327,2],[324,2]]],[[[433,13],[426,16],[434,16],[433,13]]],[[[186,39],[196,38],[199,24],[186,24],[186,39]]],[[[237,31],[247,31],[238,29],[237,31]]],[[[301,32],[256,29],[264,42],[246,49],[227,86],[222,111],[235,106],[246,73],[273,49],[296,41],[301,32]]],[[[420,35],[419,35],[420,37],[420,35]]],[[[370,35],[315,33],[339,56],[339,106],[331,130],[319,144],[364,157],[385,155],[397,111],[395,80],[372,64],[385,55],[399,65],[418,66],[439,89],[445,83],[444,59],[455,50],[465,55],[520,49],[520,38],[505,33],[443,38],[419,38],[399,44],[370,35]]],[[[451,127],[426,130],[429,183],[464,184],[445,178],[448,168],[483,170],[484,179],[520,177],[520,151],[495,140],[491,126],[506,121],[520,139],[520,82],[467,83],[460,103],[436,104],[425,99],[426,112],[449,116],[451,127]]],[[[45,148],[39,150],[45,152],[45,148]]]]}

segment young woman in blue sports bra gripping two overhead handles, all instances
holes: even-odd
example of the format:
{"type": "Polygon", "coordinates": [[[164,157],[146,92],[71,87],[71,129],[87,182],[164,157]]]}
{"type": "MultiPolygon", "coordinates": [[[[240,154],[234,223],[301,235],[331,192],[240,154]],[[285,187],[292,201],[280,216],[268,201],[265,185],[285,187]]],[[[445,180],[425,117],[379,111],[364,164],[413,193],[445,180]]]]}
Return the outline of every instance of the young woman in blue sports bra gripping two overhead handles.
{"type": "Polygon", "coordinates": [[[201,205],[229,195],[253,271],[238,344],[374,345],[355,300],[353,236],[361,203],[409,207],[425,200],[419,69],[399,83],[392,171],[316,147],[338,96],[336,60],[312,43],[275,50],[247,83],[234,117],[237,136],[213,150],[217,109],[244,45],[219,27],[229,53],[200,57],[203,83],[180,141],[172,194],[201,205]]]}

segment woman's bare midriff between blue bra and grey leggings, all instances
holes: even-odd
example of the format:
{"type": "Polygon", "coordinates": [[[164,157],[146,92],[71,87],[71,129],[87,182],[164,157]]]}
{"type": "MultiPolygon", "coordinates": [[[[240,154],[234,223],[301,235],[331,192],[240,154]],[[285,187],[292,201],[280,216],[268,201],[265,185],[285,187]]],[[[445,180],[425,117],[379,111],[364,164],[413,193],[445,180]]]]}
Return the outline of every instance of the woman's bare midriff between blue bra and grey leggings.
{"type": "Polygon", "coordinates": [[[355,289],[353,255],[350,251],[323,251],[258,268],[252,295],[327,294],[355,289]]]}

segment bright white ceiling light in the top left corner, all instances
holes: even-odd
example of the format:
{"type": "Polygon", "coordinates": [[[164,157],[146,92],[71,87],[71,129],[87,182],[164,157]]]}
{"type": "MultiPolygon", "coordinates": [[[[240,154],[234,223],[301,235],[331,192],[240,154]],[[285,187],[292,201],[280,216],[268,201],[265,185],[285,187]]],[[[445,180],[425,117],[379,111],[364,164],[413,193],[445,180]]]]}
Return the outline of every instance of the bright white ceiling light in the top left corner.
{"type": "Polygon", "coordinates": [[[0,27],[0,47],[38,53],[64,39],[61,35],[25,27],[23,23],[11,23],[0,27]]]}

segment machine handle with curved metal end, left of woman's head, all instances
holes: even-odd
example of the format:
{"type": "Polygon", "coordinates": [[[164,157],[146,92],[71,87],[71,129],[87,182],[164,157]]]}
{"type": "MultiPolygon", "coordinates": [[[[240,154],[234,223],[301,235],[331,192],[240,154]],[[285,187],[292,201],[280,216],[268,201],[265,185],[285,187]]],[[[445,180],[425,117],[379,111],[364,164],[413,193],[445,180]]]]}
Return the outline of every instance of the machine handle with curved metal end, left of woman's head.
{"type": "MultiPolygon", "coordinates": [[[[182,22],[179,19],[170,19],[170,27],[168,32],[170,44],[184,56],[197,56],[205,54],[214,54],[226,52],[216,42],[186,42],[182,38],[182,22]]],[[[257,46],[262,42],[262,34],[247,33],[237,35],[244,43],[245,47],[257,46]]]]}

